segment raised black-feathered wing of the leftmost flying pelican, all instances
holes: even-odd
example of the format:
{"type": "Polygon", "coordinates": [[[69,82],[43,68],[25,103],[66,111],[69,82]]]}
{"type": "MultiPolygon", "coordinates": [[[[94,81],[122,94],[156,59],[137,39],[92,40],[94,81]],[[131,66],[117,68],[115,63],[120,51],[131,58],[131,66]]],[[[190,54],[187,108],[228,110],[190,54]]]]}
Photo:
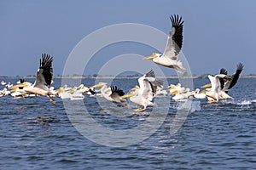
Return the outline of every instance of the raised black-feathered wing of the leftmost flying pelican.
{"type": "Polygon", "coordinates": [[[43,88],[44,86],[49,86],[52,82],[52,61],[53,57],[50,57],[49,54],[42,54],[42,60],[40,59],[40,66],[37,73],[35,87],[43,88]]]}

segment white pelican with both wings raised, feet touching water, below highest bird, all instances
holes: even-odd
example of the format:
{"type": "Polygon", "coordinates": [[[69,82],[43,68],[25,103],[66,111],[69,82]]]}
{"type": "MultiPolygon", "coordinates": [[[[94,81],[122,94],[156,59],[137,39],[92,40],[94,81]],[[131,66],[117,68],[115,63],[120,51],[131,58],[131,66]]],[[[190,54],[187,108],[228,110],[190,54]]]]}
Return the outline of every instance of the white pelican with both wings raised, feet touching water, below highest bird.
{"type": "Polygon", "coordinates": [[[147,106],[154,106],[152,100],[156,95],[156,89],[157,87],[162,87],[163,82],[155,78],[153,70],[143,75],[143,77],[139,77],[138,82],[139,88],[135,92],[125,95],[123,98],[131,97],[131,102],[142,106],[136,110],[141,112],[145,111],[147,106]]]}

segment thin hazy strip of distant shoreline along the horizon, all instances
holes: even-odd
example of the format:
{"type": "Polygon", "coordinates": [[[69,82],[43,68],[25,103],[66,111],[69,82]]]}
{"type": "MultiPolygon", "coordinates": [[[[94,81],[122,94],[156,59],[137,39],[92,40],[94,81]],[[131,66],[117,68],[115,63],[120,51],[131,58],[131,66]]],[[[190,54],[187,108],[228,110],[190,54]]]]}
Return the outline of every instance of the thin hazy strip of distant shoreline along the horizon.
{"type": "MultiPolygon", "coordinates": [[[[24,79],[32,79],[32,78],[36,78],[36,77],[0,77],[0,79],[4,79],[4,78],[7,78],[7,79],[19,79],[19,78],[24,78],[24,79]]],[[[69,78],[69,79],[85,79],[85,78],[91,78],[91,79],[113,79],[113,78],[116,78],[116,79],[137,79],[138,77],[54,77],[54,78],[69,78]]],[[[207,78],[207,77],[203,77],[203,76],[192,76],[192,77],[177,77],[177,76],[173,76],[173,77],[157,77],[157,78],[168,78],[168,79],[177,79],[177,78],[207,78]]],[[[255,76],[241,76],[240,78],[256,78],[256,75],[255,76]]]]}

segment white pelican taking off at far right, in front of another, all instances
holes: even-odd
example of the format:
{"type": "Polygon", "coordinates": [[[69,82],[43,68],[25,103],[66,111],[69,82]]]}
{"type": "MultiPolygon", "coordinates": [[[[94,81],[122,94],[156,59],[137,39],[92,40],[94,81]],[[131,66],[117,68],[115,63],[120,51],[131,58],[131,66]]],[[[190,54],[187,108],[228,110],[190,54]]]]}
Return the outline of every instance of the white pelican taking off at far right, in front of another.
{"type": "Polygon", "coordinates": [[[210,79],[211,84],[212,84],[212,88],[211,88],[210,92],[206,93],[209,103],[218,102],[219,99],[231,99],[232,98],[232,97],[230,97],[229,94],[226,94],[221,89],[220,79],[229,78],[227,75],[218,74],[218,75],[215,75],[214,77],[209,75],[208,78],[210,79]]]}

